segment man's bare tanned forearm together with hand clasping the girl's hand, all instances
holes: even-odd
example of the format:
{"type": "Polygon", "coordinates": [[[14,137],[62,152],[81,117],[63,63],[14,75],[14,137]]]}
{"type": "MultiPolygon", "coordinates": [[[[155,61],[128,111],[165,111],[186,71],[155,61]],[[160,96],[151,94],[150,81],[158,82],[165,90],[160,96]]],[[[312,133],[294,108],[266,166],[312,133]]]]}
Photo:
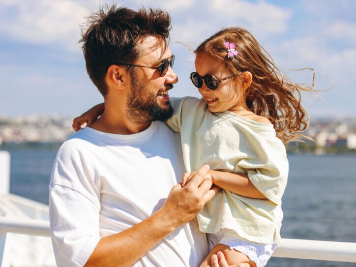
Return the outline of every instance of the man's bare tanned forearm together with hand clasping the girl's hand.
{"type": "Polygon", "coordinates": [[[211,180],[205,179],[208,171],[205,165],[186,186],[173,186],[164,205],[146,220],[102,237],[85,266],[131,266],[164,237],[191,221],[218,191],[211,188],[211,180]]]}

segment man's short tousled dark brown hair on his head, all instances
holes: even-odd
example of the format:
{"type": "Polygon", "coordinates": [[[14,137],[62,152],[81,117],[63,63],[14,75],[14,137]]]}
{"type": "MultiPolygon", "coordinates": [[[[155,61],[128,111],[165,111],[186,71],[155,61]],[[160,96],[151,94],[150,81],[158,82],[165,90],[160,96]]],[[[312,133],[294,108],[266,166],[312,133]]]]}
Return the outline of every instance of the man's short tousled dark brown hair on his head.
{"type": "Polygon", "coordinates": [[[161,9],[134,11],[113,4],[89,16],[79,42],[89,77],[101,94],[107,93],[105,75],[111,64],[135,62],[140,56],[139,41],[145,37],[154,36],[167,44],[170,30],[171,18],[161,9]]]}

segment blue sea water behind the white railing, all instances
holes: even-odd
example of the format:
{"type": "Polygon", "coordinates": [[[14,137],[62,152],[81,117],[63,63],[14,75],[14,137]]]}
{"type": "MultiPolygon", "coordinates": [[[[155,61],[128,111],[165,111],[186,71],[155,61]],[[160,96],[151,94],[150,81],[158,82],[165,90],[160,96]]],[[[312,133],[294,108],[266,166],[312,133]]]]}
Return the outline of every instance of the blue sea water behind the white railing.
{"type": "MultiPolygon", "coordinates": [[[[12,150],[10,192],[48,204],[56,151],[12,150]]],[[[356,242],[356,156],[289,155],[283,238],[356,242]]],[[[355,263],[271,258],[267,267],[356,267],[355,263]]]]}

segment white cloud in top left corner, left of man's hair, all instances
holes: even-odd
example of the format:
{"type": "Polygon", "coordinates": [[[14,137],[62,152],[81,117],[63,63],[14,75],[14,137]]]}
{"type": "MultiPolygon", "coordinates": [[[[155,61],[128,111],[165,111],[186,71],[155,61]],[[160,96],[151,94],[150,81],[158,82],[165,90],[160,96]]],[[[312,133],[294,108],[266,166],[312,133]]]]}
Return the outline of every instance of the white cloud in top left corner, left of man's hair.
{"type": "Polygon", "coordinates": [[[0,14],[0,31],[13,39],[80,51],[79,25],[89,10],[70,0],[2,0],[0,14]]]}

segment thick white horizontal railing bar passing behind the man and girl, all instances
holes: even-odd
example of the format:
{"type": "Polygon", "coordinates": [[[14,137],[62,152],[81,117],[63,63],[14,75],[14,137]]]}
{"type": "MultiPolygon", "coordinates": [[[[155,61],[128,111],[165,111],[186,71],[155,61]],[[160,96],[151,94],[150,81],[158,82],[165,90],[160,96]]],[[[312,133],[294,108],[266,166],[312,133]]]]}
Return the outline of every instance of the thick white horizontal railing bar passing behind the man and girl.
{"type": "MultiPolygon", "coordinates": [[[[0,235],[50,236],[49,221],[0,217],[0,235]]],[[[356,263],[356,243],[282,238],[273,257],[356,263]]]]}

